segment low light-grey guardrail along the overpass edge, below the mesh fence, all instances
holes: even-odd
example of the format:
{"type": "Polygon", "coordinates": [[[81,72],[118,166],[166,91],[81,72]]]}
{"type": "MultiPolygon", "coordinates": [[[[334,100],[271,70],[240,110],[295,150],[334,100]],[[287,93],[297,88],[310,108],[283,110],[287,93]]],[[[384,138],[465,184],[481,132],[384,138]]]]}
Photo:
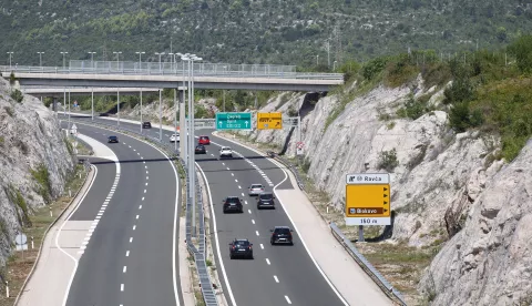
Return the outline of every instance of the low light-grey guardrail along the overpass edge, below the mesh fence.
{"type": "MultiPolygon", "coordinates": [[[[310,73],[310,72],[285,72],[285,71],[218,71],[202,69],[201,64],[194,64],[194,76],[218,76],[218,78],[267,78],[267,79],[299,79],[299,80],[344,80],[342,73],[310,73]]],[[[119,75],[175,75],[183,76],[183,71],[175,68],[129,69],[122,67],[109,68],[62,68],[62,67],[31,67],[31,65],[0,65],[0,72],[14,73],[54,73],[54,74],[119,74],[119,75]]],[[[4,74],[9,78],[9,74],[4,74]]]]}

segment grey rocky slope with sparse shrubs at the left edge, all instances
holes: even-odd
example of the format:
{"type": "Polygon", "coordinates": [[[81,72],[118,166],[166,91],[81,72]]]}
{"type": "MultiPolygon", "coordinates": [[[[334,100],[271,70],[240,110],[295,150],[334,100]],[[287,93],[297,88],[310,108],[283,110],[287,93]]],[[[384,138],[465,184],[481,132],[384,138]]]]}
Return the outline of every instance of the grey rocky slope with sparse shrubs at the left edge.
{"type": "Polygon", "coordinates": [[[0,266],[32,211],[63,192],[71,151],[57,116],[0,78],[0,266]]]}

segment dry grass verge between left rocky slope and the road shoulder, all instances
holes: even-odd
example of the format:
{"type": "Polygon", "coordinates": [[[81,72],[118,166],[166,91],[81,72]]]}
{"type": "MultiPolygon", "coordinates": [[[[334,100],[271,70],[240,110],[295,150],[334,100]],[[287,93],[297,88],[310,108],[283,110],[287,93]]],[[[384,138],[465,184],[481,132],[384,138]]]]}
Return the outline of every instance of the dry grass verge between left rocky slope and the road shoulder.
{"type": "Polygon", "coordinates": [[[30,215],[31,227],[23,228],[23,233],[28,236],[28,251],[13,251],[12,255],[6,263],[4,278],[9,282],[10,297],[6,294],[0,296],[0,306],[12,306],[14,299],[19,294],[25,278],[29,276],[33,267],[39,248],[44,239],[44,233],[50,224],[57,218],[63,210],[65,210],[73,197],[69,196],[69,190],[72,191],[72,196],[83,186],[85,182],[86,172],[82,165],[76,165],[74,175],[66,182],[64,194],[53,201],[50,205],[33,210],[30,215]],[[81,174],[81,178],[80,178],[81,174]],[[52,212],[52,216],[50,216],[52,212]],[[33,237],[33,248],[31,248],[31,237],[33,237]]]}

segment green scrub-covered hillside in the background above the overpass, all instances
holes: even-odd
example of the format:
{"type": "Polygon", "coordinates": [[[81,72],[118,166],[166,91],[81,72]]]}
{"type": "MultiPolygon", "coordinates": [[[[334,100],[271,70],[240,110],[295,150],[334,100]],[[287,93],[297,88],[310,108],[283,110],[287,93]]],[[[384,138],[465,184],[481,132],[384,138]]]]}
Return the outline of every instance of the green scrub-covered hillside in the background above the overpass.
{"type": "MultiPolygon", "coordinates": [[[[49,0],[0,3],[0,62],[137,60],[135,51],[195,52],[209,62],[327,70],[408,48],[437,54],[497,49],[532,30],[523,0],[49,0]],[[330,60],[327,57],[327,41],[330,60]],[[317,55],[319,55],[317,58],[317,55]],[[317,67],[316,67],[317,65],[317,67]],[[337,65],[337,67],[338,67],[337,65]]],[[[164,60],[170,60],[164,59],[164,60]]]]}

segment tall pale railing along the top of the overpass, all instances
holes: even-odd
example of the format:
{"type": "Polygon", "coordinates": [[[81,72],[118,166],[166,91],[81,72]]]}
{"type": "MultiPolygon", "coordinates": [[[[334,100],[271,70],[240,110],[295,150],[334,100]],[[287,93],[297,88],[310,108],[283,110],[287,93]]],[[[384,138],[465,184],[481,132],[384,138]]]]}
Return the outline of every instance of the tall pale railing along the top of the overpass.
{"type": "MultiPolygon", "coordinates": [[[[119,74],[119,75],[176,75],[187,74],[181,63],[139,63],[122,64],[105,62],[106,65],[72,65],[72,67],[31,67],[0,65],[0,72],[6,73],[55,73],[55,74],[119,74]]],[[[221,69],[219,64],[195,63],[194,76],[218,78],[267,78],[267,79],[301,79],[301,80],[344,80],[342,73],[311,73],[288,71],[275,65],[228,65],[221,69]]]]}

